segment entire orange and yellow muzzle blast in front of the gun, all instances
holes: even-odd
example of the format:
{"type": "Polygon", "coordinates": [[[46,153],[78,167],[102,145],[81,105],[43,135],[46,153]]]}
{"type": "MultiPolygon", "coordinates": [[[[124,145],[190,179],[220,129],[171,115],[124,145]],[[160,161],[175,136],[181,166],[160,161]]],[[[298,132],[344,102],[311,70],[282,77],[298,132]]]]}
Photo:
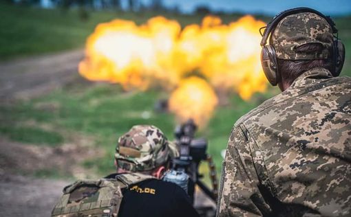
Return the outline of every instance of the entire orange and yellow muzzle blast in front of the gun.
{"type": "Polygon", "coordinates": [[[213,89],[236,91],[244,100],[266,89],[258,32],[264,25],[252,16],[228,25],[216,16],[206,16],[202,25],[184,30],[177,21],[162,16],[140,26],[123,20],[102,23],[87,39],[79,72],[89,80],[116,82],[125,89],[160,85],[172,91],[178,87],[171,94],[171,111],[180,119],[202,122],[217,104],[213,89]],[[184,78],[192,71],[209,83],[184,78]],[[184,102],[175,103],[175,99],[184,102]]]}

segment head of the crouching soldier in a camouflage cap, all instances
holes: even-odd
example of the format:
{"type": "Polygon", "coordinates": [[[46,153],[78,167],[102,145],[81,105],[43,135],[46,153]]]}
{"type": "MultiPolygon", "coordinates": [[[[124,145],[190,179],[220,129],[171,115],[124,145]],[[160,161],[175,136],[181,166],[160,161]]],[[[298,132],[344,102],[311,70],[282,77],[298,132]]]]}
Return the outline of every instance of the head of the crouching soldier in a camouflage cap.
{"type": "Polygon", "coordinates": [[[115,165],[118,172],[142,172],[160,178],[177,156],[176,146],[159,128],[136,125],[118,138],[115,165]]]}

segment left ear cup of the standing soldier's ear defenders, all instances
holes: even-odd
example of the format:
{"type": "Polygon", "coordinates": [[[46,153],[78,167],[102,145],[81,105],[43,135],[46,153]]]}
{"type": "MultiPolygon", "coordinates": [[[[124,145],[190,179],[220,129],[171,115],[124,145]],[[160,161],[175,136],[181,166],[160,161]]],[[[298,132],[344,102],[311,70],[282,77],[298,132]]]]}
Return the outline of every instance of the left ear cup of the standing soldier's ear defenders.
{"type": "Polygon", "coordinates": [[[261,50],[261,65],[267,80],[273,86],[277,85],[277,59],[275,49],[271,45],[265,45],[261,50]]]}

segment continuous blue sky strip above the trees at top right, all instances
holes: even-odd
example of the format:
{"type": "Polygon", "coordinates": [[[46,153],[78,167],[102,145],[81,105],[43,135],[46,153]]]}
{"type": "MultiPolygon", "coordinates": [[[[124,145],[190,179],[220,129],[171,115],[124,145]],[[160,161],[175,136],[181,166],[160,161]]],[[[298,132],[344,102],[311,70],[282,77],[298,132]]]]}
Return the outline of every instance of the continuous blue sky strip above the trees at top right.
{"type": "Polygon", "coordinates": [[[197,5],[209,5],[213,10],[275,15],[283,10],[308,7],[326,15],[351,14],[351,0],[164,0],[167,6],[178,5],[191,13],[197,5]]]}

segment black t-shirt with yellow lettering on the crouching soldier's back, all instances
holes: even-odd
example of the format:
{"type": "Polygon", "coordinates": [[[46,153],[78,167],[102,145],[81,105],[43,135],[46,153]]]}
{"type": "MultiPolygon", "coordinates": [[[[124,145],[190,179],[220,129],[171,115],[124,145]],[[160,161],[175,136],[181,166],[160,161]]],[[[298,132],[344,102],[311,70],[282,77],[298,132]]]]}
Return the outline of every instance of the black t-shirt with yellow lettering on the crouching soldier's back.
{"type": "MultiPolygon", "coordinates": [[[[111,174],[106,178],[114,178],[111,174]]],[[[118,217],[199,216],[187,193],[175,183],[148,179],[123,190],[118,217]]]]}

